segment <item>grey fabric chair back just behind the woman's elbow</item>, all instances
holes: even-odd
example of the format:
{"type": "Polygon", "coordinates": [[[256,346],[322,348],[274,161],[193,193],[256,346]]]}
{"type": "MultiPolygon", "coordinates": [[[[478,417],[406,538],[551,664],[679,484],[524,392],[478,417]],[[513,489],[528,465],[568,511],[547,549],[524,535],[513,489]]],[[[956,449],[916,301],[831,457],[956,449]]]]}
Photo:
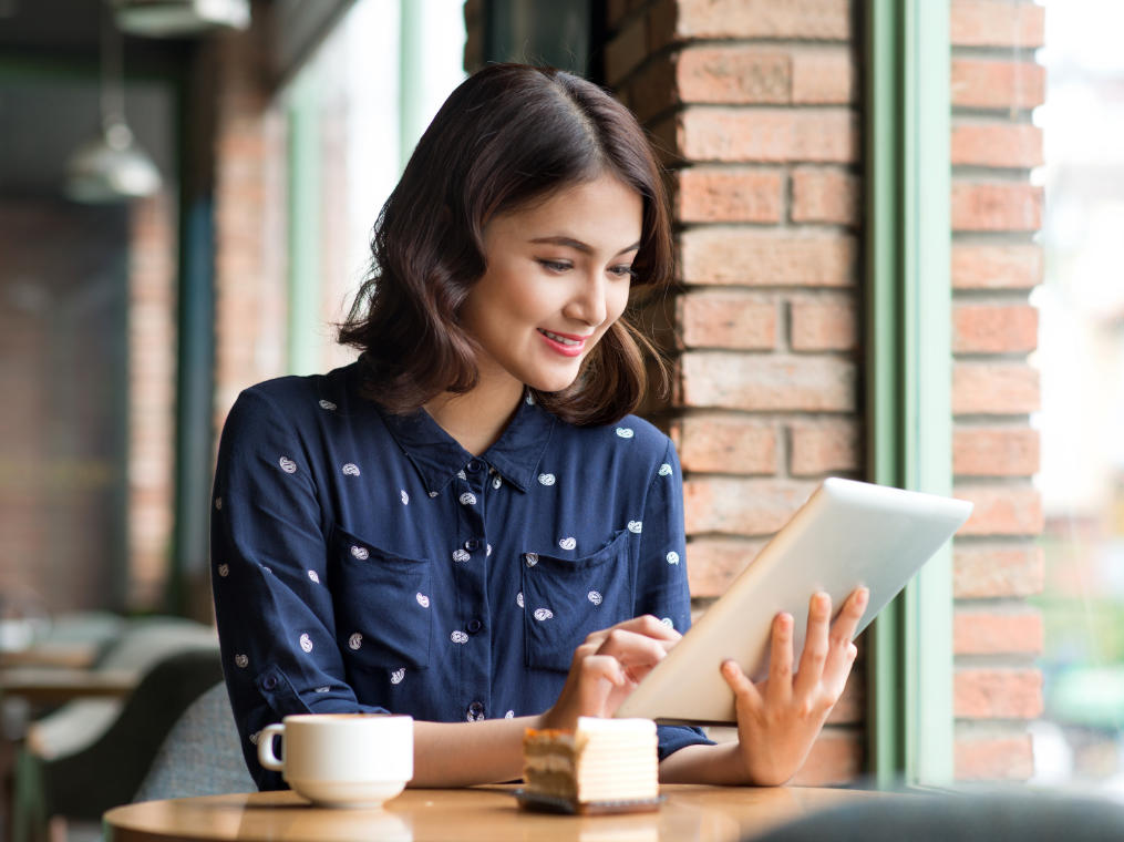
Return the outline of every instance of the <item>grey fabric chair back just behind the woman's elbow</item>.
{"type": "Polygon", "coordinates": [[[172,727],[133,800],[256,789],[242,755],[226,685],[219,682],[196,699],[172,727]]]}

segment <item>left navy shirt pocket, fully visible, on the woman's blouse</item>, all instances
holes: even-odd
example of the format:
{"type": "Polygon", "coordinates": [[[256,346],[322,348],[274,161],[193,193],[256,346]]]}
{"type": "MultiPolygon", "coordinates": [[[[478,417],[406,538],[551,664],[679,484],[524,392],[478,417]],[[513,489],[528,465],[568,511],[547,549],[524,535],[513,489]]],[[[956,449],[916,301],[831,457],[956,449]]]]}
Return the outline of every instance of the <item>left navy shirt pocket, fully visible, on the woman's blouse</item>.
{"type": "Polygon", "coordinates": [[[429,562],[380,550],[338,526],[332,547],[336,643],[348,668],[428,667],[429,562]]]}

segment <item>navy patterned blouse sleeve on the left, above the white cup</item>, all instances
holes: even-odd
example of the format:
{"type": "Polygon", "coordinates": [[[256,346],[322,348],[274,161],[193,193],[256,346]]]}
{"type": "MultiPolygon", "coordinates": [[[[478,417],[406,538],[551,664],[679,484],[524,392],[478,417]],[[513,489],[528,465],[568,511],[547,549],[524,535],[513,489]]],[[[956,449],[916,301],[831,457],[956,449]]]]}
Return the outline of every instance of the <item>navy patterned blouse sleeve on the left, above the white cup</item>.
{"type": "Polygon", "coordinates": [[[242,749],[259,787],[257,733],[289,714],[379,712],[345,680],[327,588],[325,524],[312,460],[270,399],[243,392],[219,445],[211,585],[242,749]]]}

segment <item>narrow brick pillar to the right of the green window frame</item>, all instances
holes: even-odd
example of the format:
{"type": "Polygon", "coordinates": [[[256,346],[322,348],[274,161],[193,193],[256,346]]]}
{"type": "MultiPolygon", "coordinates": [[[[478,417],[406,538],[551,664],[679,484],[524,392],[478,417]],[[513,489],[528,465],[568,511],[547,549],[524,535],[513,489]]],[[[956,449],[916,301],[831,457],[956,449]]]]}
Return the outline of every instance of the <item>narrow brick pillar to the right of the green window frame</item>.
{"type": "Polygon", "coordinates": [[[955,772],[1025,779],[1026,722],[1042,712],[1042,618],[1026,605],[1043,583],[1039,469],[1037,311],[1042,275],[1032,242],[1042,163],[1031,109],[1044,97],[1043,8],[1024,0],[952,2],[953,469],[976,503],[955,550],[955,772]]]}

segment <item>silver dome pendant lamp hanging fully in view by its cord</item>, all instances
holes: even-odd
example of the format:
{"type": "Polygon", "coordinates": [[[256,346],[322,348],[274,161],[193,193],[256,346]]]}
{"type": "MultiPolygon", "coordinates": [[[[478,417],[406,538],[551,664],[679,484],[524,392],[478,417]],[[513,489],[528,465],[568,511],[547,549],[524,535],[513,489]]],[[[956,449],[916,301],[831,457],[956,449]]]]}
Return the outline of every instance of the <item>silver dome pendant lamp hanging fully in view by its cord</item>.
{"type": "Polygon", "coordinates": [[[74,201],[105,203],[138,199],[160,190],[160,171],[133,138],[125,121],[121,35],[102,11],[101,130],[66,161],[66,196],[74,201]]]}

